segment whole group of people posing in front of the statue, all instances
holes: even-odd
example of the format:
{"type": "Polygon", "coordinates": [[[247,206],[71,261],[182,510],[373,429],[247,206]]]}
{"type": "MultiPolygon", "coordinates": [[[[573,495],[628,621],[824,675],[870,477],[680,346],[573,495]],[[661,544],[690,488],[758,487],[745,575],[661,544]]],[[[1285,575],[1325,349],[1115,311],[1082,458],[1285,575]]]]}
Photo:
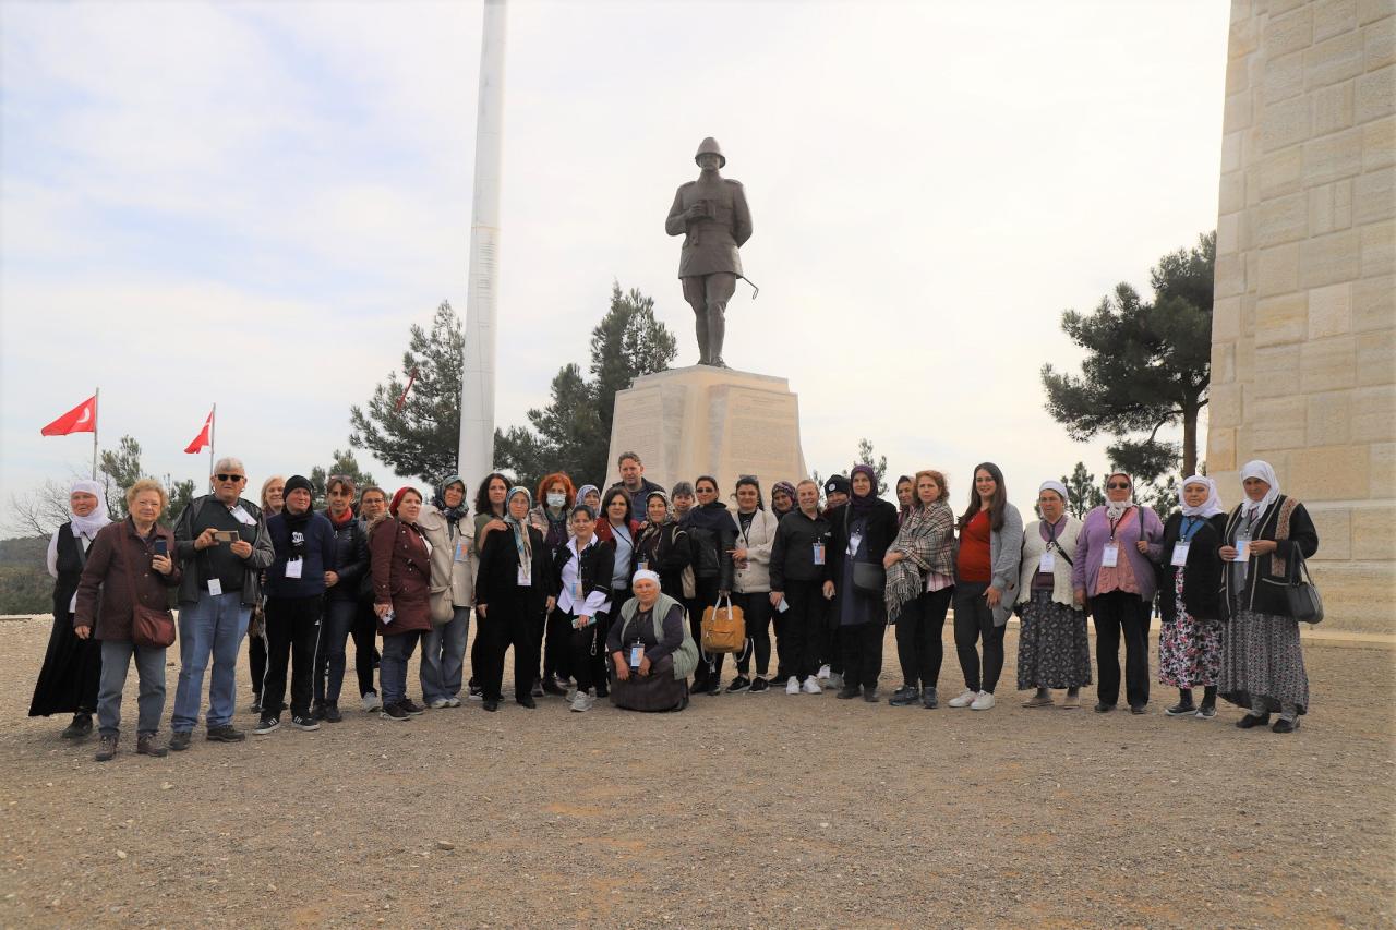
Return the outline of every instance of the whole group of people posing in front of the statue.
{"type": "Polygon", "coordinates": [[[134,659],[137,753],[190,748],[205,672],[207,739],[242,741],[233,715],[246,638],[260,715],[253,732],[269,735],[283,716],[315,730],[343,719],[350,637],[363,708],[387,721],[462,698],[498,711],[510,649],[512,697],[524,708],[561,695],[575,712],[597,698],[681,711],[692,694],[772,687],[792,695],[832,687],[839,698],[878,702],[888,624],[903,677],[888,702],[937,708],[953,605],[965,688],[949,707],[995,705],[1004,634],[1018,614],[1016,684],[1032,693],[1023,707],[1081,707],[1081,688],[1092,684],[1090,617],[1094,709],[1120,701],[1122,637],[1125,701],[1143,714],[1156,599],[1159,680],[1178,690],[1167,715],[1213,718],[1220,694],[1247,709],[1237,726],[1277,714],[1272,729],[1287,733],[1307,712],[1298,621],[1283,589],[1316,552],[1318,535],[1265,462],[1241,471],[1244,497],[1230,514],[1216,483],[1194,475],[1180,508],[1160,521],[1135,503],[1131,476],[1114,472],[1106,503],[1085,519],[1068,512],[1060,482],[1043,482],[1039,518],[1026,526],[993,462],[974,469],[958,517],[945,475],[933,469],[899,479],[898,504],[878,496],[868,465],[822,489],[776,482],[769,504],[759,479],[743,476],[733,507],[708,475],[666,490],[645,479],[634,452],[620,457],[618,471],[604,492],[547,475],[536,499],[491,473],[473,501],[459,475],[445,476],[430,501],[410,486],[389,497],[335,475],[315,511],[300,475],[271,478],[260,501],[247,500],[243,464],[223,458],[212,493],[191,501],[173,529],[158,522],[169,503],[158,482],[127,489],[117,522],[102,487],[77,482],[73,518],[49,545],[54,624],[29,712],[71,712],[68,739],[91,735],[95,715],[96,758],[113,758],[134,659]],[[172,589],[180,670],[162,744],[165,647],[145,630],[149,614],[168,610],[172,589]],[[729,603],[741,609],[747,640],[723,687],[725,655],[698,644],[704,610],[729,603]],[[419,648],[422,704],[408,697],[419,648]],[[1065,690],[1060,702],[1057,690],[1065,690]]]}

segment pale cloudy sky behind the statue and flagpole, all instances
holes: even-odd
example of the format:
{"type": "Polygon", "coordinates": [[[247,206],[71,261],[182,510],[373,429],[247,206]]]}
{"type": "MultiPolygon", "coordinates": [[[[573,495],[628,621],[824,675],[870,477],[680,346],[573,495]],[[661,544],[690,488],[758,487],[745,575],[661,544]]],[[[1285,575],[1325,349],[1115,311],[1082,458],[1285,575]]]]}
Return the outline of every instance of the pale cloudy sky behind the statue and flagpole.
{"type": "MultiPolygon", "coordinates": [[[[1071,441],[1040,367],[1216,225],[1228,4],[528,1],[508,8],[497,423],[525,423],[611,282],[697,362],[663,232],[713,135],[754,235],[726,360],[789,378],[805,462],[976,462],[1029,508],[1071,441]]],[[[348,445],[441,300],[465,314],[482,4],[0,1],[0,525],[91,436],[218,450],[253,485],[348,445]]],[[[1205,436],[1205,430],[1202,433],[1205,436]]],[[[380,483],[391,469],[360,452],[380,483]]]]}

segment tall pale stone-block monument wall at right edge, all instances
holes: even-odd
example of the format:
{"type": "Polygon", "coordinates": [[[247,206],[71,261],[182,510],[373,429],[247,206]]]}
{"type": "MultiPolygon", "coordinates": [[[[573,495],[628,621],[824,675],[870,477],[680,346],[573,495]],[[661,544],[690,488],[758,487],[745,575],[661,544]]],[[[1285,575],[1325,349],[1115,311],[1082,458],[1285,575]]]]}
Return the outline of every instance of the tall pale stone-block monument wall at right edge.
{"type": "Polygon", "coordinates": [[[1233,0],[1208,468],[1275,465],[1328,624],[1396,631],[1396,0],[1233,0]]]}

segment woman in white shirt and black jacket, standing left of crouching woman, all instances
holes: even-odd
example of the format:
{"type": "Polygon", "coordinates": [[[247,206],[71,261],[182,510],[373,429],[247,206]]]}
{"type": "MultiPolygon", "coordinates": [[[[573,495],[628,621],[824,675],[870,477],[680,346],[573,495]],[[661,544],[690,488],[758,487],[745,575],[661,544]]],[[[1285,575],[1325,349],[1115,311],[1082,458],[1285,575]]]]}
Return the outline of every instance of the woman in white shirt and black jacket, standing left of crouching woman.
{"type": "Polygon", "coordinates": [[[572,538],[553,556],[547,609],[549,624],[568,631],[577,691],[571,695],[578,714],[596,704],[592,687],[593,658],[604,656],[606,641],[597,635],[603,614],[610,610],[616,547],[596,536],[596,514],[586,504],[572,508],[572,538]]]}

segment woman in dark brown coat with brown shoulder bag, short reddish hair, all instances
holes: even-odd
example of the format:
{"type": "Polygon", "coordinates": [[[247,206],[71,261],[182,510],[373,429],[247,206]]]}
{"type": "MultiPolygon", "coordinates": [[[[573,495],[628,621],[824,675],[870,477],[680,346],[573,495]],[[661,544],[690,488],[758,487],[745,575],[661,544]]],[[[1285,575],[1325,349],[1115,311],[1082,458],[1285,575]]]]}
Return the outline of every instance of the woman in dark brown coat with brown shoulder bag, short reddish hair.
{"type": "MultiPolygon", "coordinates": [[[[102,642],[102,681],[98,686],[96,719],[102,737],[96,761],[116,755],[121,732],[121,690],[126,672],[135,658],[141,679],[137,707],[135,751],[141,755],[165,755],[156,737],[165,712],[165,648],[135,642],[135,607],[169,612],[169,592],[179,586],[179,564],[170,559],[174,533],[155,521],[169,504],[165,487],[149,478],[126,492],[127,518],[107,524],[92,540],[82,580],[78,582],[78,607],[73,614],[73,633],[80,640],[96,637],[102,642]]],[[[170,620],[170,641],[174,638],[170,620]]]]}

